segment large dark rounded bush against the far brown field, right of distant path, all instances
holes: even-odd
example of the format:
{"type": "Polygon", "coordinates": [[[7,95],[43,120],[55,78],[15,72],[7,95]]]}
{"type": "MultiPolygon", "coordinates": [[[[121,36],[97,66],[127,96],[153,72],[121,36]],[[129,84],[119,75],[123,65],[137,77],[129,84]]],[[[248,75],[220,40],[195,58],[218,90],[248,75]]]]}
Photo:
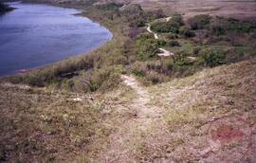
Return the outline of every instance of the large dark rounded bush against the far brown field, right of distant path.
{"type": "Polygon", "coordinates": [[[210,24],[210,15],[196,15],[188,20],[188,23],[192,29],[202,29],[210,24]]]}

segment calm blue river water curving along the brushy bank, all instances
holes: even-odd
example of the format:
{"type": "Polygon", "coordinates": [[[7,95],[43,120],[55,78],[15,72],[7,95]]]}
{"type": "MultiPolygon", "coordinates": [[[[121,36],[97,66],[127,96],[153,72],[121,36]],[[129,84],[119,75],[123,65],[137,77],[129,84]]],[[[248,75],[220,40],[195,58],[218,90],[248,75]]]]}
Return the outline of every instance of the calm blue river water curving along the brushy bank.
{"type": "Polygon", "coordinates": [[[0,16],[0,76],[16,74],[86,53],[105,44],[105,27],[74,14],[76,9],[13,3],[0,16]]]}

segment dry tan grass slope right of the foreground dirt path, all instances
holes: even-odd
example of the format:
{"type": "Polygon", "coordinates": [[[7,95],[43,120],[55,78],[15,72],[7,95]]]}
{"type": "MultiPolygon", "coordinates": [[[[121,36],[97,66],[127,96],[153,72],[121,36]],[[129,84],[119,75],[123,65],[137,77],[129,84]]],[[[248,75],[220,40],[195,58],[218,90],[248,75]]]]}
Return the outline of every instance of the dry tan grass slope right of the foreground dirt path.
{"type": "Polygon", "coordinates": [[[255,63],[206,69],[150,87],[151,104],[165,111],[145,141],[138,143],[137,158],[150,162],[254,162],[255,63]],[[211,132],[223,124],[238,128],[243,139],[212,140],[211,132]]]}

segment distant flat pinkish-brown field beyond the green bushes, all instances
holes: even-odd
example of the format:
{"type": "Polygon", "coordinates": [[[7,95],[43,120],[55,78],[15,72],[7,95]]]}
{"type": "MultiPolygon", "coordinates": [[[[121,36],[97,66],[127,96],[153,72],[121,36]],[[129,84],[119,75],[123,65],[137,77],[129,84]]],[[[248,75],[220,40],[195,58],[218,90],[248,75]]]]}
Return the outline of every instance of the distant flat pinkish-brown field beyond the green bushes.
{"type": "MultiPolygon", "coordinates": [[[[101,0],[100,0],[101,1],[101,0]]],[[[105,1],[105,0],[102,0],[105,1]]],[[[164,9],[167,14],[184,13],[185,17],[210,14],[237,18],[256,16],[256,2],[253,0],[112,0],[115,2],[138,3],[143,9],[164,9]]]]}

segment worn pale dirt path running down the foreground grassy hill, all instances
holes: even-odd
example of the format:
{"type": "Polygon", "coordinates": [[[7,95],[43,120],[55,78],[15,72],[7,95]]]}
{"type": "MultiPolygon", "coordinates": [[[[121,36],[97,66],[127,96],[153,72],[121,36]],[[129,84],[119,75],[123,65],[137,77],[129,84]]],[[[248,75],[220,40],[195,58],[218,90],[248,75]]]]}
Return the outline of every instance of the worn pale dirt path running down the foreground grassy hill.
{"type": "Polygon", "coordinates": [[[97,162],[119,163],[135,162],[136,146],[143,141],[143,136],[156,120],[160,117],[158,108],[148,105],[150,96],[135,77],[121,76],[122,81],[137,93],[137,98],[126,105],[119,105],[118,109],[129,108],[136,112],[134,118],[124,121],[116,133],[110,136],[109,145],[100,155],[97,162]]]}

